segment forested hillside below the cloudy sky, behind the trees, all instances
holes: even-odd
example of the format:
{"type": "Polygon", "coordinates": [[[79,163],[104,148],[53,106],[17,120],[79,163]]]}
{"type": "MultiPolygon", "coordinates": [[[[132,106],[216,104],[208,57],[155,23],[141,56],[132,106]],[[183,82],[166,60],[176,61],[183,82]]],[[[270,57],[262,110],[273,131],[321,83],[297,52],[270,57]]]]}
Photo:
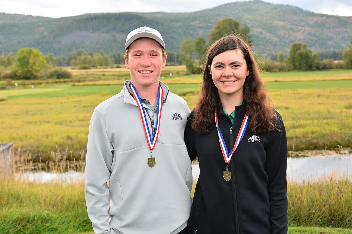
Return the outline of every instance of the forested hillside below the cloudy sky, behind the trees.
{"type": "Polygon", "coordinates": [[[191,13],[104,13],[59,19],[0,13],[0,52],[16,52],[23,47],[36,47],[57,57],[78,49],[124,52],[127,33],[144,25],[162,33],[166,51],[178,52],[184,37],[207,39],[216,22],[226,17],[250,27],[259,55],[288,53],[295,41],[318,52],[341,51],[352,35],[352,17],[256,0],[191,13]]]}

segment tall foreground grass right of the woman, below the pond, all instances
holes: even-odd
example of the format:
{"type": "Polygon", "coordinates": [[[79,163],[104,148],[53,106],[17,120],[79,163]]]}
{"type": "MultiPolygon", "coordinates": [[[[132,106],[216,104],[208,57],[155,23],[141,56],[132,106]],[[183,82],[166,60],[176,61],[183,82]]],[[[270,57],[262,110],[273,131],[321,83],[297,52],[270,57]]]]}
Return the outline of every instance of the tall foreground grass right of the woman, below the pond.
{"type": "Polygon", "coordinates": [[[288,183],[287,195],[291,224],[352,228],[351,176],[288,183]]]}

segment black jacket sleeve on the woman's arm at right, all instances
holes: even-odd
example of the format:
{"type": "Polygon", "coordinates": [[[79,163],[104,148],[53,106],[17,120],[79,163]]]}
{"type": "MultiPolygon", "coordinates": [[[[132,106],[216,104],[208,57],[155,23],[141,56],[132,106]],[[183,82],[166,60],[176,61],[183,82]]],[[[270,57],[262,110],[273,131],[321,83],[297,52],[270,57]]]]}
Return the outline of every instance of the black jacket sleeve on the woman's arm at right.
{"type": "Polygon", "coordinates": [[[281,131],[270,132],[266,147],[265,170],[268,174],[268,191],[271,211],[272,234],[286,234],[287,216],[287,137],[281,116],[279,124],[281,131]]]}

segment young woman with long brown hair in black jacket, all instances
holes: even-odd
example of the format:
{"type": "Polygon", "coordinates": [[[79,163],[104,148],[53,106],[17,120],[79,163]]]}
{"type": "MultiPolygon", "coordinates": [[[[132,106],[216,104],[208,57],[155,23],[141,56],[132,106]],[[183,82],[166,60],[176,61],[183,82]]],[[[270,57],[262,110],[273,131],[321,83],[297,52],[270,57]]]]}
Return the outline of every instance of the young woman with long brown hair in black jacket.
{"type": "Polygon", "coordinates": [[[189,233],[287,233],[285,128],[240,38],[209,48],[185,142],[200,167],[189,233]]]}

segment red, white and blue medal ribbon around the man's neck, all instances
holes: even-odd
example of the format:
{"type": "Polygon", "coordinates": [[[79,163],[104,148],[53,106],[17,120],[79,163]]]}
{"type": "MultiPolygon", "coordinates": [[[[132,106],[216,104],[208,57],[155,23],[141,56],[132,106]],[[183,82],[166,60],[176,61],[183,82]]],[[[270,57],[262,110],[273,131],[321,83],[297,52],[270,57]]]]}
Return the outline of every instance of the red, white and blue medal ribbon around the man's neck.
{"type": "Polygon", "coordinates": [[[159,136],[159,128],[160,128],[160,120],[161,120],[161,109],[163,107],[163,89],[160,87],[159,84],[159,90],[158,90],[158,110],[157,110],[157,119],[155,122],[155,132],[154,135],[152,136],[150,134],[150,130],[149,130],[149,126],[148,126],[148,121],[147,121],[147,116],[145,115],[145,111],[143,108],[143,103],[142,100],[140,100],[140,97],[138,95],[138,92],[136,90],[136,88],[133,86],[133,84],[131,83],[131,89],[132,89],[132,93],[133,93],[133,97],[137,102],[137,106],[139,109],[139,114],[140,114],[140,118],[142,119],[142,123],[143,123],[143,128],[144,128],[144,133],[145,133],[145,138],[147,139],[147,143],[149,146],[150,150],[153,150],[155,147],[155,144],[158,140],[158,136],[159,136]]]}

